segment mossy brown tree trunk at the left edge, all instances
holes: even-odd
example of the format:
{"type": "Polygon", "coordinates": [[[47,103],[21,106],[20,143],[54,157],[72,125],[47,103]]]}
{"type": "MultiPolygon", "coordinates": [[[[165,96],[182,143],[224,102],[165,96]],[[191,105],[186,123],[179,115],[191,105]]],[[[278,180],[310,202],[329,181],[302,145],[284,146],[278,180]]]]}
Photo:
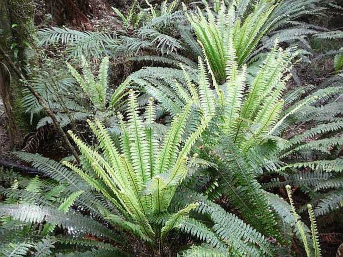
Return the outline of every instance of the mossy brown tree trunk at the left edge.
{"type": "MultiPolygon", "coordinates": [[[[0,0],[0,47],[26,73],[35,65],[36,50],[33,23],[33,0],[0,0]]],[[[0,96],[6,106],[5,115],[13,146],[22,144],[29,128],[21,104],[23,85],[5,56],[0,55],[0,96]]]]}

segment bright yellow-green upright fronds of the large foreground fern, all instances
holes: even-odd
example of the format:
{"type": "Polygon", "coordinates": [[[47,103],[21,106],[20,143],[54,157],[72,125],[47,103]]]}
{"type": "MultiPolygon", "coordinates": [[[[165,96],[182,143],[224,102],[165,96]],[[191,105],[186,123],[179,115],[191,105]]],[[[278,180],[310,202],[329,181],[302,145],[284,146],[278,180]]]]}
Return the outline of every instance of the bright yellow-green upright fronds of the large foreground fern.
{"type": "MultiPolygon", "coordinates": [[[[179,148],[190,110],[188,105],[180,115],[175,116],[164,139],[158,142],[152,126],[155,119],[153,100],[150,100],[145,123],[139,116],[136,95],[131,91],[128,120],[124,121],[119,115],[122,129],[120,149],[99,121],[89,121],[105,157],[70,132],[83,155],[83,169],[69,162],[65,164],[110,200],[128,221],[136,224],[145,239],[153,238],[155,231],[149,219],[168,209],[177,185],[187,173],[187,154],[206,127],[207,121],[200,120],[199,127],[188,135],[183,147],[179,148]],[[101,178],[101,182],[93,177],[93,173],[101,178]]],[[[196,205],[190,206],[167,222],[161,237],[196,205]]]]}

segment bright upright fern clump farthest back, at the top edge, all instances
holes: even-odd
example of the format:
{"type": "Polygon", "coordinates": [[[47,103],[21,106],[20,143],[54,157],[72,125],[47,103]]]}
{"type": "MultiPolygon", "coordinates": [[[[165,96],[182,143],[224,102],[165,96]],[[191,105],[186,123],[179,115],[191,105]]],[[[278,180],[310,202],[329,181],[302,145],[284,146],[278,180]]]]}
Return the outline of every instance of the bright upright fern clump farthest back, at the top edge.
{"type": "MultiPolygon", "coordinates": [[[[296,22],[293,22],[293,27],[283,27],[282,30],[271,33],[285,24],[292,24],[291,20],[305,14],[306,10],[310,11],[312,2],[257,1],[250,3],[251,6],[247,8],[249,1],[239,4],[231,2],[228,6],[222,1],[217,13],[213,13],[207,5],[207,16],[200,8],[197,14],[190,13],[186,16],[194,28],[217,82],[222,83],[226,80],[225,68],[231,57],[228,44],[233,45],[240,67],[257,52],[270,48],[275,41],[291,41],[301,35],[314,34],[316,30],[307,29],[296,22]],[[262,37],[270,33],[270,38],[261,44],[262,37]]],[[[314,8],[312,11],[318,10],[314,8]]]]}

